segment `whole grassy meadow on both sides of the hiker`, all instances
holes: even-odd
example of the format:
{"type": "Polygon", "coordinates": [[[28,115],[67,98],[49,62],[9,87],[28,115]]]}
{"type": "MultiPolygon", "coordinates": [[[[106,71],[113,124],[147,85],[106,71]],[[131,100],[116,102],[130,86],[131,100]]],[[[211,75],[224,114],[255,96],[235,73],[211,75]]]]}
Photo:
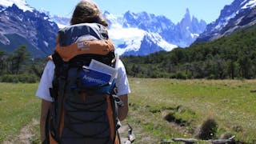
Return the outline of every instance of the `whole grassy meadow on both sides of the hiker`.
{"type": "MultiPolygon", "coordinates": [[[[230,134],[239,142],[256,142],[256,80],[129,80],[130,111],[122,125],[133,127],[135,143],[194,138],[209,118],[218,124],[214,138],[230,134]]],[[[17,142],[24,126],[30,141],[39,142],[37,86],[0,83],[0,143],[17,142]]]]}

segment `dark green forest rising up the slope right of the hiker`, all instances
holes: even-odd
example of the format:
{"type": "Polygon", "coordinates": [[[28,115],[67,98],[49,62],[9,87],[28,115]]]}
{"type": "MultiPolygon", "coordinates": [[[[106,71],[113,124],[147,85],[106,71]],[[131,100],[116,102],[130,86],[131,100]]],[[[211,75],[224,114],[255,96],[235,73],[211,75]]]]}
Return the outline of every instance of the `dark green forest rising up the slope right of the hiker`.
{"type": "Polygon", "coordinates": [[[127,74],[140,78],[256,78],[256,25],[211,42],[122,60],[127,74]]]}

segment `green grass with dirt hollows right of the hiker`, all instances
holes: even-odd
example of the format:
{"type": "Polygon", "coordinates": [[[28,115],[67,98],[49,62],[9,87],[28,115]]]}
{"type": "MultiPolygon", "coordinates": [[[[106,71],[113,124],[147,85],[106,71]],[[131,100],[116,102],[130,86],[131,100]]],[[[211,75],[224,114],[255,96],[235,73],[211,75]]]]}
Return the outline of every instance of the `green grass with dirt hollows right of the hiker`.
{"type": "MultiPolygon", "coordinates": [[[[216,138],[230,133],[239,141],[256,142],[255,80],[134,78],[130,86],[128,121],[142,126],[140,134],[151,134],[157,142],[162,138],[193,138],[207,118],[218,123],[216,138]],[[174,114],[182,125],[165,121],[166,114],[174,114]]],[[[143,139],[146,135],[138,136],[143,139]]]]}

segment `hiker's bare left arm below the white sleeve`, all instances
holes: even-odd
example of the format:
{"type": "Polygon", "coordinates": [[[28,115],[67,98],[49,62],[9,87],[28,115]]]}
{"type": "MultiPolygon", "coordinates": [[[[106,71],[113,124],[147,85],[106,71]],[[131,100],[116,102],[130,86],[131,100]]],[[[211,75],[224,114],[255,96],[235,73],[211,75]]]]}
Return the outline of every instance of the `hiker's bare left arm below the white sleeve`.
{"type": "Polygon", "coordinates": [[[46,127],[46,118],[48,111],[50,110],[51,102],[48,102],[42,99],[41,103],[41,118],[40,118],[40,134],[41,134],[41,142],[43,142],[46,138],[45,135],[45,127],[46,127]]]}

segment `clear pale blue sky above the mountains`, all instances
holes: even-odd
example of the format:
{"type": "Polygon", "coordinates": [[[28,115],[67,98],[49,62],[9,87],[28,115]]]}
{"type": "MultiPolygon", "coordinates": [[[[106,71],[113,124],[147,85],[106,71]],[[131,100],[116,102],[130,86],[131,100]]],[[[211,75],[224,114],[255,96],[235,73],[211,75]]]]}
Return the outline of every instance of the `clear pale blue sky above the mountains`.
{"type": "MultiPolygon", "coordinates": [[[[36,8],[50,11],[50,14],[57,14],[70,17],[74,6],[80,0],[26,0],[36,8]]],[[[172,22],[179,22],[186,8],[190,14],[207,23],[218,18],[220,11],[225,5],[230,5],[234,0],[94,0],[99,8],[107,10],[112,14],[124,14],[126,11],[138,13],[146,11],[150,14],[165,15],[172,22]]]]}

